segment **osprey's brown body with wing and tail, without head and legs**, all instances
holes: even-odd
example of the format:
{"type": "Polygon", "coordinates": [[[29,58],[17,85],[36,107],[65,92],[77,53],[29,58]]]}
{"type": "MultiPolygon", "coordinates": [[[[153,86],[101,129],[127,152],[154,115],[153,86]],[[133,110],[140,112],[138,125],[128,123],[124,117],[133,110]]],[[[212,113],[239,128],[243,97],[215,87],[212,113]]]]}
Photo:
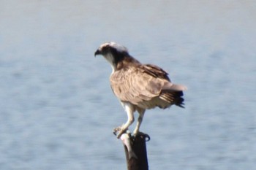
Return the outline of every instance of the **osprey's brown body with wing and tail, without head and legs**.
{"type": "Polygon", "coordinates": [[[163,69],[151,64],[143,65],[130,58],[118,64],[118,69],[110,76],[110,84],[121,101],[143,109],[165,109],[173,104],[183,107],[182,90],[185,87],[170,82],[163,69]]]}

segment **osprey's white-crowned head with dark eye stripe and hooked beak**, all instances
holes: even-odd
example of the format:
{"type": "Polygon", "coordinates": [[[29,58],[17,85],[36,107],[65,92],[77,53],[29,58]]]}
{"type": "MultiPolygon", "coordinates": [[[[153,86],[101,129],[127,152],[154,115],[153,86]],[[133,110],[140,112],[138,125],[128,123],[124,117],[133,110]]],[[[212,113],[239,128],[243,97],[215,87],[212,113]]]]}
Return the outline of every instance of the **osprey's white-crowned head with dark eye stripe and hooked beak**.
{"type": "Polygon", "coordinates": [[[99,46],[94,53],[94,56],[96,55],[103,55],[113,69],[116,69],[117,63],[125,56],[129,56],[129,53],[126,47],[118,45],[116,42],[107,42],[99,46]]]}

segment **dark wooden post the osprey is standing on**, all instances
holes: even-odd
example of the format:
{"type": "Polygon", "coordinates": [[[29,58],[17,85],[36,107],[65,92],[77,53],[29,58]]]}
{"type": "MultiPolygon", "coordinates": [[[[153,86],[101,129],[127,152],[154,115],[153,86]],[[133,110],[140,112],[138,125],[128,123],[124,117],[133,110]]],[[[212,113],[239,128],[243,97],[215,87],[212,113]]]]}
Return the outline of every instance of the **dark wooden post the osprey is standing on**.
{"type": "Polygon", "coordinates": [[[121,140],[127,158],[127,170],[148,170],[146,142],[150,137],[143,133],[136,137],[127,133],[121,135],[121,140]]]}

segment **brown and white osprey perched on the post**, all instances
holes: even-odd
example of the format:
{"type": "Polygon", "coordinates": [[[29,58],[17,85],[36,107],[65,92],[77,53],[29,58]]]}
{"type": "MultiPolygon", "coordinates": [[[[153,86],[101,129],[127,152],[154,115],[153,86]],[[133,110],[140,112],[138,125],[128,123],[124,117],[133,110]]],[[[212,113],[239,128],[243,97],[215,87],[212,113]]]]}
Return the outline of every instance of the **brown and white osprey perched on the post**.
{"type": "Polygon", "coordinates": [[[110,85],[127,112],[127,123],[118,128],[118,138],[134,122],[135,111],[139,113],[133,131],[136,136],[140,133],[139,128],[146,109],[165,109],[173,104],[184,107],[182,91],[186,90],[186,87],[170,82],[167,72],[158,66],[140,63],[129,55],[126,47],[107,42],[99,46],[94,53],[94,56],[96,55],[103,55],[112,66],[110,85]]]}

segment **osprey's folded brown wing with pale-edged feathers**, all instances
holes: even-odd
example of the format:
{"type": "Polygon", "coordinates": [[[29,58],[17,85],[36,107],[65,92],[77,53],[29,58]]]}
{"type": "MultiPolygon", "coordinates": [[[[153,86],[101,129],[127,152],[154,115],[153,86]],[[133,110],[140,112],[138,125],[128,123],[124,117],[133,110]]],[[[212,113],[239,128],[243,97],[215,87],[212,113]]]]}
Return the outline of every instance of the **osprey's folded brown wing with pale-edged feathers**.
{"type": "MultiPolygon", "coordinates": [[[[184,86],[173,85],[167,77],[167,72],[154,65],[137,65],[128,69],[120,69],[110,77],[113,93],[121,101],[129,101],[138,104],[150,101],[152,98],[161,96],[165,91],[179,91],[184,86]]],[[[172,96],[165,95],[161,99],[170,101],[172,96]],[[169,99],[169,100],[167,100],[169,99]]]]}

